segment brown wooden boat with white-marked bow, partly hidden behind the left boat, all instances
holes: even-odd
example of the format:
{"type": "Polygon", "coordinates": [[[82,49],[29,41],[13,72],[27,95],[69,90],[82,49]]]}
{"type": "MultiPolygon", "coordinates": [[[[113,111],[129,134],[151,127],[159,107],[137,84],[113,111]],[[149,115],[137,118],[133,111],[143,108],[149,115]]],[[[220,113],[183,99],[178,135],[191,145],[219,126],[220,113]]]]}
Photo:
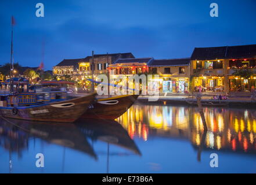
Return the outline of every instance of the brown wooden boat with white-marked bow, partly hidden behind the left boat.
{"type": "Polygon", "coordinates": [[[124,114],[134,104],[139,95],[120,95],[98,99],[89,105],[82,118],[114,120],[124,114]]]}

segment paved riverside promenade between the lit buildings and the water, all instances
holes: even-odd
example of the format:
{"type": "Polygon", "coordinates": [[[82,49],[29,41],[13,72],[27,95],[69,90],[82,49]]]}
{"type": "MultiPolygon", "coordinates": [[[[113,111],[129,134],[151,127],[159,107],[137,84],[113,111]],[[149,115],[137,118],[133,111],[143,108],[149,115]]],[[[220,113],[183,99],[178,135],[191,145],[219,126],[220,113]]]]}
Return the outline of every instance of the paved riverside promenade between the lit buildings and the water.
{"type": "MultiPolygon", "coordinates": [[[[88,93],[71,93],[72,96],[83,96],[88,93]]],[[[256,101],[251,99],[252,93],[250,92],[232,92],[227,94],[226,100],[213,100],[214,95],[223,95],[223,92],[208,92],[202,94],[202,102],[221,102],[227,103],[228,107],[232,108],[253,108],[256,109],[256,101]]],[[[110,97],[116,97],[111,95],[110,97]]],[[[109,98],[108,95],[100,95],[97,98],[109,98]]],[[[160,93],[156,101],[149,101],[146,95],[140,95],[137,103],[149,105],[189,105],[188,101],[196,101],[196,93],[194,94],[174,94],[174,93],[160,93]]]]}

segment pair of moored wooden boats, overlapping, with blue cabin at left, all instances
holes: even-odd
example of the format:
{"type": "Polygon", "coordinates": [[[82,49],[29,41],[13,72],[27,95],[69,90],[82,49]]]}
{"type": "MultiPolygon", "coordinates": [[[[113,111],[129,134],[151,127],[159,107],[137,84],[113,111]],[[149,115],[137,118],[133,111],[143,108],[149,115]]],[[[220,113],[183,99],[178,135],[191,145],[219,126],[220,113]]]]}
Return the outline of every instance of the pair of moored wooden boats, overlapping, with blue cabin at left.
{"type": "Polygon", "coordinates": [[[116,119],[125,113],[139,95],[96,99],[96,93],[68,97],[58,83],[28,87],[24,79],[12,79],[9,93],[0,94],[0,115],[12,119],[73,122],[78,118],[116,119]]]}

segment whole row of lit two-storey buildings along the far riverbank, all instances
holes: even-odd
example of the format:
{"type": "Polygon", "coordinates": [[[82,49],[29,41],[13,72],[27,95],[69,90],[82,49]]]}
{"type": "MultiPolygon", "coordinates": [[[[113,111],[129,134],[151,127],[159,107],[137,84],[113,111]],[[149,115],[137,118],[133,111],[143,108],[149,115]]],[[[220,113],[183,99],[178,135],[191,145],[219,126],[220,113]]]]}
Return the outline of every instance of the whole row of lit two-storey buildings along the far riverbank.
{"type": "Polygon", "coordinates": [[[135,58],[132,53],[95,54],[63,60],[53,75],[70,75],[83,88],[99,74],[157,74],[161,92],[251,92],[256,87],[256,45],[196,47],[190,58],[135,58]]]}

